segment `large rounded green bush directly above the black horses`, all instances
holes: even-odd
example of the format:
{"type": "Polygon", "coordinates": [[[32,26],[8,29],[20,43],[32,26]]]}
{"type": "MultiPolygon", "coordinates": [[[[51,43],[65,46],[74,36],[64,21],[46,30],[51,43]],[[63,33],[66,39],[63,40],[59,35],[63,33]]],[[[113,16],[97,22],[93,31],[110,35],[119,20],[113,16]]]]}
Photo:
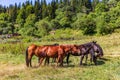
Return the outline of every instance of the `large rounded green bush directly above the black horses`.
{"type": "Polygon", "coordinates": [[[78,19],[73,24],[73,28],[82,30],[83,34],[93,34],[95,33],[96,25],[92,16],[79,14],[78,19]]]}

